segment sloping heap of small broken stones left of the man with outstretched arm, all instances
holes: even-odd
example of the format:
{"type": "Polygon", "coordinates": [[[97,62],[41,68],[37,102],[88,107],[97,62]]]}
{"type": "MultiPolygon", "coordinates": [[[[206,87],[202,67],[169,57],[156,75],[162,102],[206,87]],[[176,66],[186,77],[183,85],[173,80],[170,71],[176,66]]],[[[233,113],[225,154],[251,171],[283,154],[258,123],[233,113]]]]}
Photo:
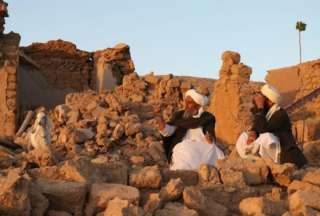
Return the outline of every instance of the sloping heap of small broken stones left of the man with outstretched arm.
{"type": "Polygon", "coordinates": [[[184,86],[171,75],[159,78],[130,73],[115,90],[68,94],[65,104],[51,113],[57,158],[120,151],[133,165],[165,164],[160,134],[154,128],[154,109],[160,107],[163,117],[169,119],[183,106],[184,86]]]}

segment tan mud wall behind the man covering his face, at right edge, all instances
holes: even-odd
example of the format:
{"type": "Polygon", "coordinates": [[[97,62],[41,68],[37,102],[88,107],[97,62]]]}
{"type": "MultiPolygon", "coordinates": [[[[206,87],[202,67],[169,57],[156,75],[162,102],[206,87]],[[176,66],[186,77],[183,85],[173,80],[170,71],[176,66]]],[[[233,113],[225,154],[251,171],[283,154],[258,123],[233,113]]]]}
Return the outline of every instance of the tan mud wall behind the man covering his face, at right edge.
{"type": "Polygon", "coordinates": [[[270,70],[266,80],[282,93],[296,142],[313,155],[320,139],[320,60],[270,70]]]}

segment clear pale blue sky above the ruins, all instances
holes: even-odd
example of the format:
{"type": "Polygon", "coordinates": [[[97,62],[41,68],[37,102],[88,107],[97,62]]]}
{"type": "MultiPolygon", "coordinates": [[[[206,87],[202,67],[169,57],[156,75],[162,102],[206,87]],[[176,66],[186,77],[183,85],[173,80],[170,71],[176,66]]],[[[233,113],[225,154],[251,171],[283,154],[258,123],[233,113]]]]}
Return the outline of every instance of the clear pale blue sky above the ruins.
{"type": "Polygon", "coordinates": [[[21,45],[63,39],[93,51],[130,45],[136,71],[218,78],[225,50],[240,52],[253,80],[268,69],[320,58],[319,0],[7,0],[6,31],[21,45]]]}

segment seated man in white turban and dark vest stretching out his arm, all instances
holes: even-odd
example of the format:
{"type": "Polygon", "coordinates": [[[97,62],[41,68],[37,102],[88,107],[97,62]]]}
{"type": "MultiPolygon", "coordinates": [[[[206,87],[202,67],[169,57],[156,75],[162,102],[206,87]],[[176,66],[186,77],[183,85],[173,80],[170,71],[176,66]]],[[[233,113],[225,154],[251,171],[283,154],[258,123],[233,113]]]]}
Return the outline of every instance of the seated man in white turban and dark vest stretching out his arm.
{"type": "Polygon", "coordinates": [[[215,145],[215,117],[204,111],[208,98],[190,89],[185,94],[185,109],[165,123],[158,119],[167,158],[172,170],[195,170],[201,164],[214,165],[224,157],[215,145]]]}

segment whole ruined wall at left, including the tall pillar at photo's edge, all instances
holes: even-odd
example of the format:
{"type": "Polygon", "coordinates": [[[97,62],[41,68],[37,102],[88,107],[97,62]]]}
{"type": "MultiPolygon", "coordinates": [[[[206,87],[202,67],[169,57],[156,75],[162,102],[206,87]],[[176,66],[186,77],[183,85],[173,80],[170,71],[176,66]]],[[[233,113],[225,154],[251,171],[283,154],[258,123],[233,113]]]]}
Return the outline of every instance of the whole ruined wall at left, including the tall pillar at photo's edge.
{"type": "Polygon", "coordinates": [[[69,93],[97,89],[98,83],[115,80],[115,84],[99,86],[100,90],[111,89],[122,83],[124,75],[134,72],[125,44],[97,52],[82,51],[62,40],[19,48],[19,35],[3,34],[7,16],[7,3],[0,0],[0,121],[5,125],[0,136],[12,137],[17,120],[22,120],[27,110],[52,108],[62,104],[69,93]],[[102,70],[103,76],[98,76],[96,69],[106,65],[111,70],[102,70]]]}

